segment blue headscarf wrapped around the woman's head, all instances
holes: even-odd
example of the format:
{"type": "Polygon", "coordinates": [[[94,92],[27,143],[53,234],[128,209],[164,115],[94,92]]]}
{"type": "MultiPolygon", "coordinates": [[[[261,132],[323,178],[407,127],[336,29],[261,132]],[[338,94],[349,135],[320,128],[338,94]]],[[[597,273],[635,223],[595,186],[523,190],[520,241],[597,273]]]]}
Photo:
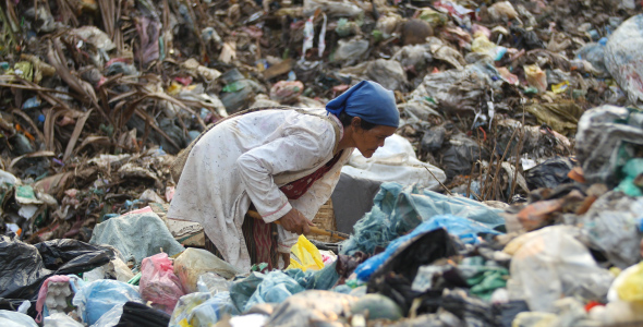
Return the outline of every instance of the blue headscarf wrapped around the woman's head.
{"type": "Polygon", "coordinates": [[[371,81],[362,81],[330,100],[326,110],[337,117],[345,111],[349,116],[376,125],[397,128],[400,123],[400,111],[396,107],[393,92],[371,81]]]}

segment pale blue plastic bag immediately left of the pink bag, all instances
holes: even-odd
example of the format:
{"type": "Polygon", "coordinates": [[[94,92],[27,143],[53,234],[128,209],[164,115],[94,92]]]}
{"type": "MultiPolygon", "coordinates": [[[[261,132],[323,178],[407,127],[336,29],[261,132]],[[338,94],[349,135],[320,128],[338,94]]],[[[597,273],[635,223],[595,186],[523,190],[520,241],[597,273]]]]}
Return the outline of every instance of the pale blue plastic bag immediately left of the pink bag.
{"type": "Polygon", "coordinates": [[[137,287],[118,280],[102,279],[85,284],[76,292],[72,303],[77,307],[83,322],[94,325],[108,311],[128,301],[143,303],[137,287]]]}

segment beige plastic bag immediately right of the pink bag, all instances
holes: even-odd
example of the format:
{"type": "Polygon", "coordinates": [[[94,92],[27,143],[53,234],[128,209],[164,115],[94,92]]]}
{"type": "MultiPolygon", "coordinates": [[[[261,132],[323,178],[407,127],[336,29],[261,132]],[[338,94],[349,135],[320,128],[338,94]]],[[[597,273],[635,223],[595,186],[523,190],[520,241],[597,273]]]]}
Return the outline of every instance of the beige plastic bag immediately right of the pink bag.
{"type": "Polygon", "coordinates": [[[238,268],[206,250],[190,247],[174,261],[174,274],[179,276],[183,290],[187,293],[195,292],[198,276],[207,272],[216,272],[223,278],[232,278],[242,274],[238,268]]]}

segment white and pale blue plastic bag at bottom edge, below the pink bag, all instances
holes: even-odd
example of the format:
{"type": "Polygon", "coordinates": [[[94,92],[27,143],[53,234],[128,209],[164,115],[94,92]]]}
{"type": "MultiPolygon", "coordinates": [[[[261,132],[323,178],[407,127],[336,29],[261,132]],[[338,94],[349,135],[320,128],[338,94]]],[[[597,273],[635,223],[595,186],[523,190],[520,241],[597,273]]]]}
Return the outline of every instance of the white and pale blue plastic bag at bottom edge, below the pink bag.
{"type": "Polygon", "coordinates": [[[214,326],[225,315],[238,315],[229,292],[196,292],[181,296],[172,313],[169,327],[207,327],[214,326]]]}

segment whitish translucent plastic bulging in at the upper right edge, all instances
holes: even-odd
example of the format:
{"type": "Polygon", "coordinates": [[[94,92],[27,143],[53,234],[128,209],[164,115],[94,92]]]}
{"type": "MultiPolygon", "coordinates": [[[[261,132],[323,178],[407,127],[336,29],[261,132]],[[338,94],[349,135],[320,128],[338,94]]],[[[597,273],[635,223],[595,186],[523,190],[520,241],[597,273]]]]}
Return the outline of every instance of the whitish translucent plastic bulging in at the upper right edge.
{"type": "Polygon", "coordinates": [[[622,23],[605,46],[607,70],[627,92],[630,102],[643,101],[643,14],[622,23]]]}

